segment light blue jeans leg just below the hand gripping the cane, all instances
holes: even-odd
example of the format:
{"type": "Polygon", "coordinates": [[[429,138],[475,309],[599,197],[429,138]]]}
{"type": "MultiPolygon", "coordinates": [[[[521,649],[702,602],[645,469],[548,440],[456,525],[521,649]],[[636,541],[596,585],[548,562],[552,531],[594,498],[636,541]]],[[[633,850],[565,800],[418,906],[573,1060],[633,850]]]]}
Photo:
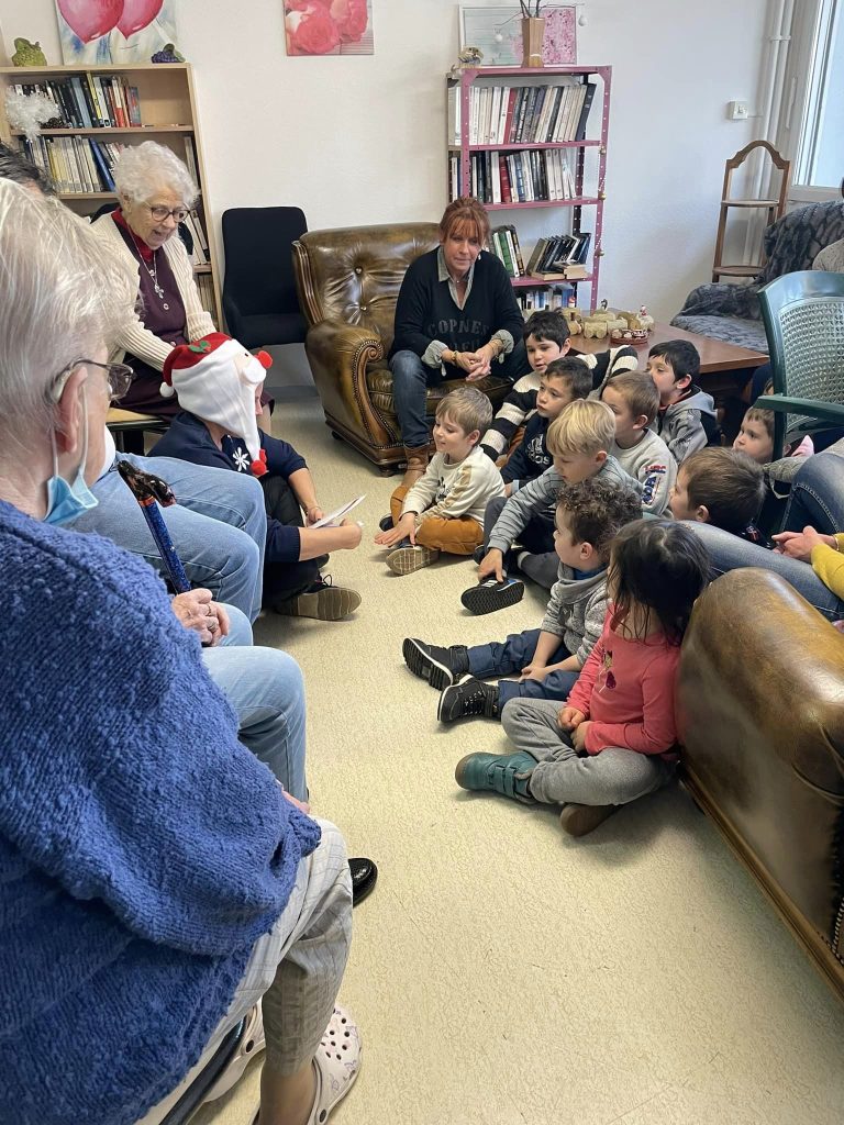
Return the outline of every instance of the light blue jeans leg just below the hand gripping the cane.
{"type": "Polygon", "coordinates": [[[217,648],[203,649],[205,667],[237,713],[241,742],[289,793],[306,801],[302,670],[287,652],[253,648],[249,619],[233,605],[226,609],[230,634],[217,648]]]}

